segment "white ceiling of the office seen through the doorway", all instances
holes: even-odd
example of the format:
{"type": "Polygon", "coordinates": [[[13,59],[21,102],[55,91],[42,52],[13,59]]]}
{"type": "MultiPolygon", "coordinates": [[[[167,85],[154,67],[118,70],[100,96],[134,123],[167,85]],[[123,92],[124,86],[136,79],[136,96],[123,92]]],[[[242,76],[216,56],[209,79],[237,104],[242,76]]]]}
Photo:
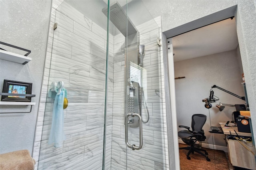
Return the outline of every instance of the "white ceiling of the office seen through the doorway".
{"type": "Polygon", "coordinates": [[[238,46],[235,19],[226,19],[172,38],[174,62],[231,51],[238,46]]]}

